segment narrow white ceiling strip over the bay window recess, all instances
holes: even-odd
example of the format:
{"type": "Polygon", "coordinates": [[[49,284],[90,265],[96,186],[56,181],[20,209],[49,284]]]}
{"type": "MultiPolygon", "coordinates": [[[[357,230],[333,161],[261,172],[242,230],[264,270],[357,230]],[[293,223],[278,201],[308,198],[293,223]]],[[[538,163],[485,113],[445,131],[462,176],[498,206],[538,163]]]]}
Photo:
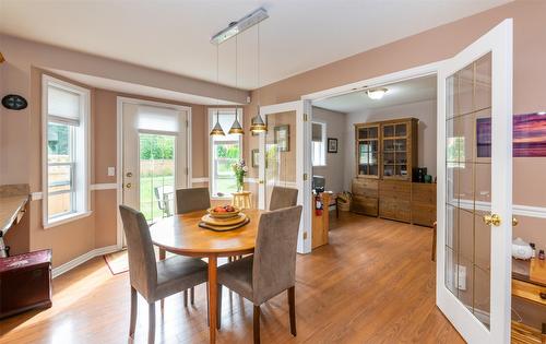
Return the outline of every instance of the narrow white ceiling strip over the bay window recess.
{"type": "Polygon", "coordinates": [[[131,94],[131,95],[141,95],[141,96],[154,97],[154,98],[159,98],[159,99],[177,100],[177,102],[181,102],[181,103],[201,104],[201,105],[235,105],[235,103],[232,103],[232,102],[219,100],[219,99],[215,99],[215,98],[203,97],[203,96],[198,96],[198,95],[193,95],[193,94],[181,93],[181,92],[176,92],[176,91],[170,91],[170,90],[144,86],[144,85],[122,82],[122,81],[118,81],[118,80],[98,78],[98,76],[74,73],[74,72],[69,72],[69,71],[61,71],[61,70],[57,70],[57,69],[51,69],[50,71],[58,74],[58,75],[66,76],[70,80],[78,81],[82,84],[85,84],[85,85],[88,85],[92,87],[110,90],[110,91],[127,93],[127,94],[131,94]]]}

